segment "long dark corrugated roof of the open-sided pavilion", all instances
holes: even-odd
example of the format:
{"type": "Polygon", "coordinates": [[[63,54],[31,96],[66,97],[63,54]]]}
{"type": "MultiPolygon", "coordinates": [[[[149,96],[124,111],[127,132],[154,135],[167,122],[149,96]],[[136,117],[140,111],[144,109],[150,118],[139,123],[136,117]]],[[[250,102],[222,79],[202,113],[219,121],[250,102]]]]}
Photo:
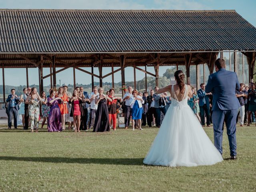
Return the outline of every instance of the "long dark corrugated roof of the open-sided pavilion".
{"type": "Polygon", "coordinates": [[[235,10],[0,9],[0,53],[256,50],[235,10]]]}

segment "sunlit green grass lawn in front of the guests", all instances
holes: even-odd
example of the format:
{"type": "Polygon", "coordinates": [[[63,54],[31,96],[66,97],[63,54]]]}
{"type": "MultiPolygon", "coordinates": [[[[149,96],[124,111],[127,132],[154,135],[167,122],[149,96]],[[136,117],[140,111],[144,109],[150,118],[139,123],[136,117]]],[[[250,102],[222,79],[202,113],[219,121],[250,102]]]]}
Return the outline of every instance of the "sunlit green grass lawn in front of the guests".
{"type": "MultiPolygon", "coordinates": [[[[158,128],[105,133],[0,129],[0,191],[255,191],[256,127],[238,127],[238,159],[146,166],[158,128]]],[[[205,128],[213,140],[212,128],[205,128]]],[[[229,157],[226,131],[223,158],[229,157]]]]}

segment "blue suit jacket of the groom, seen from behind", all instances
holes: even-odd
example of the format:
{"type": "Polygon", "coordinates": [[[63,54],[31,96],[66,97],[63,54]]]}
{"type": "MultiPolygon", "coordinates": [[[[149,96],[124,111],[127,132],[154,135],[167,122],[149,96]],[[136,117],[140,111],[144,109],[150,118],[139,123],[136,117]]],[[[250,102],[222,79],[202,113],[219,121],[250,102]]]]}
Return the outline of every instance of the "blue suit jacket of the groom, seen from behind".
{"type": "Polygon", "coordinates": [[[211,74],[205,90],[212,92],[212,110],[238,109],[240,104],[236,98],[236,90],[239,89],[240,84],[235,72],[221,68],[211,74]]]}

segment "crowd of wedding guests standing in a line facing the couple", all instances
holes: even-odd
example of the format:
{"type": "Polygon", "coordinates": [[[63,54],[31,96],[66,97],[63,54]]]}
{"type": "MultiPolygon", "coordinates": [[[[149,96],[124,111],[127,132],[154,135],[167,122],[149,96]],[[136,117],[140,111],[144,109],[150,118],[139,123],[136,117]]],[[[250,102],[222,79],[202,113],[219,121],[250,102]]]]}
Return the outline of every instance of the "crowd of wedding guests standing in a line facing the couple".
{"type": "MultiPolygon", "coordinates": [[[[128,129],[130,121],[132,130],[142,130],[141,126],[149,127],[156,125],[158,128],[171,104],[171,97],[167,93],[155,94],[159,88],[148,92],[138,92],[128,86],[124,97],[115,96],[114,89],[104,94],[103,88],[93,87],[91,93],[85,92],[83,87],[76,87],[73,93],[68,91],[67,86],[50,89],[49,95],[41,92],[39,95],[36,88],[24,88],[23,94],[17,96],[15,89],[6,99],[6,113],[8,115],[8,128],[12,126],[14,117],[14,128],[17,128],[18,113],[22,115],[24,130],[30,129],[38,132],[39,120],[42,118],[43,128],[47,120],[49,132],[60,132],[74,126],[75,132],[80,130],[93,129],[93,132],[116,130],[117,111],[122,108],[125,129],[128,129]],[[20,104],[20,105],[19,105],[20,104]],[[132,119],[130,120],[130,118],[132,119]]],[[[204,127],[211,126],[212,93],[205,92],[205,84],[200,84],[200,89],[192,87],[193,97],[188,97],[188,105],[195,116],[204,127]],[[205,123],[206,119],[206,123],[205,123]]],[[[238,116],[240,115],[240,126],[250,126],[255,122],[256,112],[256,86],[250,83],[249,86],[240,84],[240,90],[236,90],[236,96],[240,102],[238,116]]],[[[237,121],[238,121],[237,116],[237,121]]]]}

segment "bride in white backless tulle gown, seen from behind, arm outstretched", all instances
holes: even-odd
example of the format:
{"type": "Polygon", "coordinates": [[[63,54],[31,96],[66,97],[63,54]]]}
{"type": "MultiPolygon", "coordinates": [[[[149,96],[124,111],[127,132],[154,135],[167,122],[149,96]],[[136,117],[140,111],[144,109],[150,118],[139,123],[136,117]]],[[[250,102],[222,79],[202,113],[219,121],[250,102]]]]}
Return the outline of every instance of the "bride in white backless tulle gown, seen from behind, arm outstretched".
{"type": "Polygon", "coordinates": [[[156,94],[169,91],[172,104],[168,108],[159,132],[143,160],[144,164],[161,166],[198,166],[221,162],[220,152],[204,132],[194,112],[187,104],[193,97],[185,84],[182,70],[174,73],[177,84],[159,89],[156,94]]]}

